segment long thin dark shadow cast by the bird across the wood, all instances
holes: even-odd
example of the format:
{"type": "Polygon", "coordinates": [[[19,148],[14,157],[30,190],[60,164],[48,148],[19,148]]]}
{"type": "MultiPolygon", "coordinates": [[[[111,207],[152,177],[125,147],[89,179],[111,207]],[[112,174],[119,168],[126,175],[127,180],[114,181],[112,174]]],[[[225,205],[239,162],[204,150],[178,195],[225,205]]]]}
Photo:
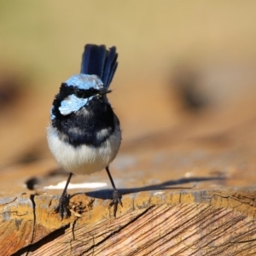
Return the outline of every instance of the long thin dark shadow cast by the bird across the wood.
{"type": "MultiPolygon", "coordinates": [[[[152,190],[193,189],[195,188],[195,185],[190,187],[177,187],[177,185],[185,184],[185,183],[196,184],[196,183],[200,183],[204,181],[212,181],[212,180],[224,180],[225,178],[226,177],[188,177],[188,178],[184,177],[177,180],[169,180],[164,183],[159,183],[159,184],[154,184],[149,186],[130,188],[130,189],[117,189],[117,190],[119,191],[120,195],[128,195],[128,194],[133,194],[133,193],[138,193],[143,191],[152,191],[152,190]],[[174,185],[175,187],[172,187],[174,185]]],[[[100,190],[95,190],[95,191],[90,191],[85,193],[76,193],[74,195],[78,195],[78,194],[85,194],[90,197],[94,197],[102,200],[113,199],[113,189],[100,189],[100,190]]],[[[74,195],[72,195],[71,197],[73,197],[74,195]]]]}

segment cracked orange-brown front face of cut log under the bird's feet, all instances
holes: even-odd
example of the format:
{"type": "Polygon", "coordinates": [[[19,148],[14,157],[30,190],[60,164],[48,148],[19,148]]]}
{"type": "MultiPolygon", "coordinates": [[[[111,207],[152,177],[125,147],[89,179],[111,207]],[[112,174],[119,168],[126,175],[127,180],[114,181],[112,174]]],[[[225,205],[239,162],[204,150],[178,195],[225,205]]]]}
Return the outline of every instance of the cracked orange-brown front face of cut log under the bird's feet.
{"type": "Polygon", "coordinates": [[[55,195],[5,197],[1,255],[254,255],[255,190],[129,191],[117,218],[104,191],[76,194],[62,221],[55,195]]]}

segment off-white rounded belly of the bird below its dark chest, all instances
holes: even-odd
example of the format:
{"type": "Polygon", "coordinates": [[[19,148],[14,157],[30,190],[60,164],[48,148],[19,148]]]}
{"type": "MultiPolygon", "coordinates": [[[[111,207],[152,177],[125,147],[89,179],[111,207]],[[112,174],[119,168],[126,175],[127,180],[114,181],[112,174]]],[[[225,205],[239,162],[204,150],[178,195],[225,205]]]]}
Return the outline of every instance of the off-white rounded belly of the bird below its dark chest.
{"type": "Polygon", "coordinates": [[[90,174],[101,171],[113,161],[119,151],[121,131],[117,126],[108,140],[98,148],[86,145],[74,148],[61,141],[52,126],[47,128],[47,140],[55,160],[67,172],[90,174]]]}

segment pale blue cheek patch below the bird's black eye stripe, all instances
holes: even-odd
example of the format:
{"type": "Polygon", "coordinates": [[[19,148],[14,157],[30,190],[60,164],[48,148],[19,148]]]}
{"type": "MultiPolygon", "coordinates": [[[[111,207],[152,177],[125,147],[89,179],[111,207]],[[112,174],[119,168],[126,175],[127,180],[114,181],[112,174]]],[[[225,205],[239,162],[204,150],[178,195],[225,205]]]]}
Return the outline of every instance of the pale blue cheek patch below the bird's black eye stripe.
{"type": "Polygon", "coordinates": [[[62,102],[59,108],[62,115],[67,115],[69,113],[77,112],[80,108],[83,108],[92,98],[78,98],[74,94],[67,96],[62,102]]]}

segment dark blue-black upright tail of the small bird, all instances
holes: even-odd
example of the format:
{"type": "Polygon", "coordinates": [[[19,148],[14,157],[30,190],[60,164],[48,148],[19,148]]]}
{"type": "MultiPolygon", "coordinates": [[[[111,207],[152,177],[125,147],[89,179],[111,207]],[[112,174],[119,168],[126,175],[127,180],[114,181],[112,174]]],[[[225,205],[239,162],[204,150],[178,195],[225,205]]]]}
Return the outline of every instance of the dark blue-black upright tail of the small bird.
{"type": "Polygon", "coordinates": [[[114,46],[108,50],[105,45],[86,44],[82,55],[81,73],[97,75],[108,88],[118,66],[117,57],[114,46]]]}

